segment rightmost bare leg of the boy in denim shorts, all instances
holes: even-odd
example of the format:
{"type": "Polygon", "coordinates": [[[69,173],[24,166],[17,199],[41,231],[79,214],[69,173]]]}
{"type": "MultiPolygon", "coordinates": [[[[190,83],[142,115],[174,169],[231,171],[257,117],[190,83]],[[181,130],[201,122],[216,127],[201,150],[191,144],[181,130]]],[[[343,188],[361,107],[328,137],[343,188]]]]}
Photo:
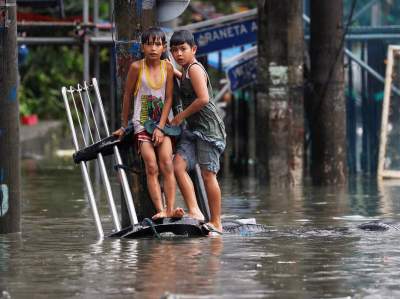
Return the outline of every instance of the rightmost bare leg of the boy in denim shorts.
{"type": "Polygon", "coordinates": [[[217,175],[212,171],[201,170],[204,180],[204,187],[208,197],[210,208],[210,222],[217,230],[222,231],[221,224],[221,189],[219,188],[217,175]]]}

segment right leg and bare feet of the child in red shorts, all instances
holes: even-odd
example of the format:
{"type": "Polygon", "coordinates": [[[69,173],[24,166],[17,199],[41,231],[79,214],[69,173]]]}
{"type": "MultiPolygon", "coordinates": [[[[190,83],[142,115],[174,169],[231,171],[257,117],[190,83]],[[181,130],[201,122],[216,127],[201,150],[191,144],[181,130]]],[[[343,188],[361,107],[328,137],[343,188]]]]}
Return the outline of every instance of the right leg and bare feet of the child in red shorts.
{"type": "Polygon", "coordinates": [[[153,218],[161,217],[182,217],[182,208],[174,209],[176,196],[176,180],[174,166],[172,163],[172,144],[168,136],[164,137],[163,142],[156,148],[158,155],[158,165],[164,179],[164,193],[167,202],[167,209],[157,213],[153,218]]]}

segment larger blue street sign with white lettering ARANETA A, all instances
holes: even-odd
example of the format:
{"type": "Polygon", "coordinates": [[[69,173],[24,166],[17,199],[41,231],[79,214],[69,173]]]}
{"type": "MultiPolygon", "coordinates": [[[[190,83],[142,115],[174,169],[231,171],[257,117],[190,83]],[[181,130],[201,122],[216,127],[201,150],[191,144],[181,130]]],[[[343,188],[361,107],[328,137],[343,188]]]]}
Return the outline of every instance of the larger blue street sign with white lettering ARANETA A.
{"type": "Polygon", "coordinates": [[[197,55],[207,54],[257,41],[257,20],[229,23],[193,33],[197,55]]]}

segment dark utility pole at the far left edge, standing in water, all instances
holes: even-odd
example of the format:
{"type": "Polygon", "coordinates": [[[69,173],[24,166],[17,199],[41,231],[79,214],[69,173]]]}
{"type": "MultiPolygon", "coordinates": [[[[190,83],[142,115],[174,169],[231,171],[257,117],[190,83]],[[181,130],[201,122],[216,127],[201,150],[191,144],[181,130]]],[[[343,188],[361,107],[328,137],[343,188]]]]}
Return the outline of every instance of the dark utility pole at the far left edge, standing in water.
{"type": "Polygon", "coordinates": [[[21,230],[17,5],[0,0],[0,233],[21,230]]]}

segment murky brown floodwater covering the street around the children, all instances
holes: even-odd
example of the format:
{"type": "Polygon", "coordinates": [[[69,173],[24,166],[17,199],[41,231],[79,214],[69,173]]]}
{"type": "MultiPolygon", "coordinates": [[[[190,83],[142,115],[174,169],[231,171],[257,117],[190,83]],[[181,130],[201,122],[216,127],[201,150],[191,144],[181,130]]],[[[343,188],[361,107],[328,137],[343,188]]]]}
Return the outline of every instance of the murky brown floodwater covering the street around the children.
{"type": "Polygon", "coordinates": [[[357,228],[400,222],[400,182],[292,192],[220,182],[224,216],[255,217],[267,232],[99,241],[80,168],[23,161],[22,233],[0,236],[0,298],[400,297],[400,231],[357,228]]]}

